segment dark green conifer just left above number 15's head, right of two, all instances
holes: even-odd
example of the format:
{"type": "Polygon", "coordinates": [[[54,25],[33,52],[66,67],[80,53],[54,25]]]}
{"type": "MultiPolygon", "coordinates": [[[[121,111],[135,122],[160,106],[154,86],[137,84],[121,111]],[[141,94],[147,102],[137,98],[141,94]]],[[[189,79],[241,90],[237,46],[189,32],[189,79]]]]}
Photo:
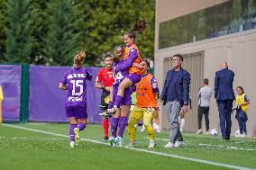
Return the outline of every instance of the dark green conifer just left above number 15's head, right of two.
{"type": "Polygon", "coordinates": [[[44,38],[44,56],[48,64],[67,66],[78,52],[79,32],[75,32],[77,5],[72,0],[55,0],[48,4],[48,32],[44,38]]]}

